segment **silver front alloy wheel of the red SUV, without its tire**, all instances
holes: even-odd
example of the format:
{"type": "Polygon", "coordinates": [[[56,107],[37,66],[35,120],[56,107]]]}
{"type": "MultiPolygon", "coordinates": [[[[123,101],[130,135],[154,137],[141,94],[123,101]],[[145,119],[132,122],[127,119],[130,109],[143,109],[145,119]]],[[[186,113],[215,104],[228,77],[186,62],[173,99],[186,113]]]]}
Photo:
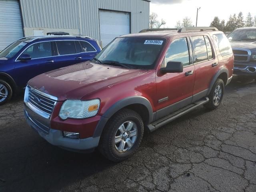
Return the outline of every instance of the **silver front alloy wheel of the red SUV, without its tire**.
{"type": "Polygon", "coordinates": [[[137,126],[132,121],[124,122],[116,131],[114,144],[118,152],[126,152],[134,145],[138,134],[137,126]]]}

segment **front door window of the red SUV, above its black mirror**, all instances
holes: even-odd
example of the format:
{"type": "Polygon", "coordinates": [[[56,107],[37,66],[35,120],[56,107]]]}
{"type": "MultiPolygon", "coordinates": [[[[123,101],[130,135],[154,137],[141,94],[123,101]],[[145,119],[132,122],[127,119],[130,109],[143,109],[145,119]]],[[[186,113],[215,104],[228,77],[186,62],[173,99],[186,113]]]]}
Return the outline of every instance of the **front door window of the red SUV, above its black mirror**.
{"type": "Polygon", "coordinates": [[[188,43],[186,38],[178,38],[174,40],[168,48],[166,55],[166,63],[169,61],[182,62],[183,66],[189,65],[188,43]]]}

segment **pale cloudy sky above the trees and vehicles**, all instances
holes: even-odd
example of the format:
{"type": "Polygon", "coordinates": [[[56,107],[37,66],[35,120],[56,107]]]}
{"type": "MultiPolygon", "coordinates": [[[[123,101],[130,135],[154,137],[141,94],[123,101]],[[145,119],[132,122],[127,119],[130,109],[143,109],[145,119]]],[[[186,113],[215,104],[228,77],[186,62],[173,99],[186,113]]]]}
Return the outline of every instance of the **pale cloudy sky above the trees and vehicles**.
{"type": "Polygon", "coordinates": [[[150,13],[158,14],[158,20],[166,21],[165,28],[175,27],[178,20],[188,16],[196,25],[196,10],[198,11],[197,26],[210,26],[214,16],[227,22],[230,14],[240,11],[246,18],[248,12],[256,15],[256,0],[151,0],[150,13]]]}

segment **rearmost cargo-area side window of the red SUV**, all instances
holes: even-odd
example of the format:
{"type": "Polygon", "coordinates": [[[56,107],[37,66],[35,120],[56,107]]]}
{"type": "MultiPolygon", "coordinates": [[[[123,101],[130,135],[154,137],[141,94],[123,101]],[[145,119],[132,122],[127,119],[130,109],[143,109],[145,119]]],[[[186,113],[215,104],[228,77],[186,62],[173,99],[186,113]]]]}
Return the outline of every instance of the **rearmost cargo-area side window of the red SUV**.
{"type": "Polygon", "coordinates": [[[214,41],[220,50],[221,56],[232,54],[232,48],[229,41],[224,34],[216,34],[214,36],[214,41]]]}

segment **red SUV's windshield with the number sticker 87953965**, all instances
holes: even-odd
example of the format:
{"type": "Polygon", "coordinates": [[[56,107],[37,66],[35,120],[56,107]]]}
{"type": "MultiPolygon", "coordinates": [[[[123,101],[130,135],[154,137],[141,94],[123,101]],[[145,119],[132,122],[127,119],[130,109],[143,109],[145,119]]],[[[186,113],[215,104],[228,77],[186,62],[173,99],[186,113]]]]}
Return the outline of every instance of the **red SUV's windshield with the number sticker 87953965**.
{"type": "Polygon", "coordinates": [[[94,60],[125,68],[152,69],[164,43],[161,38],[116,38],[94,60]]]}

